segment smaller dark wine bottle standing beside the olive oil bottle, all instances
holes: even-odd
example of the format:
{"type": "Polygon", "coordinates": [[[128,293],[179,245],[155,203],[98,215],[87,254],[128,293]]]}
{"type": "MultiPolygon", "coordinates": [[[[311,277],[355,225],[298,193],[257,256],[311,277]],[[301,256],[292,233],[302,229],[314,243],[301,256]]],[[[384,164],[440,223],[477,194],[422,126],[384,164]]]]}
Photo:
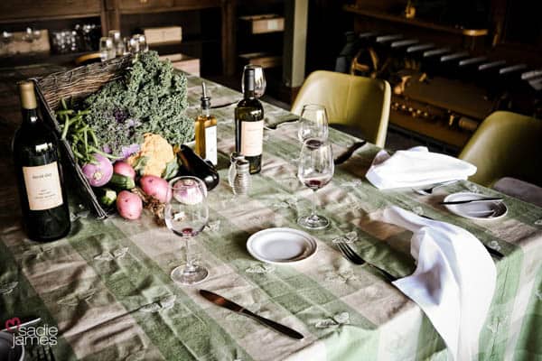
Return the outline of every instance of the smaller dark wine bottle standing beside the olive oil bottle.
{"type": "Polygon", "coordinates": [[[245,93],[235,108],[235,150],[245,156],[250,174],[262,168],[264,107],[254,94],[254,69],[245,69],[245,93]]]}

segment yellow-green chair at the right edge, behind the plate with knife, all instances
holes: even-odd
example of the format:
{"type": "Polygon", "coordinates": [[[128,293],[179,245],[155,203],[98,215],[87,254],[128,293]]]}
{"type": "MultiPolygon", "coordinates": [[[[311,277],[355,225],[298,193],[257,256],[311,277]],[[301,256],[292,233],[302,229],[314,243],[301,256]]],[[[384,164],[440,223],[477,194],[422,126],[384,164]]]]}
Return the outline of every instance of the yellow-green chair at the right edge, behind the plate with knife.
{"type": "Polygon", "coordinates": [[[491,187],[503,177],[542,186],[542,120],[498,111],[488,116],[459,158],[478,170],[469,178],[491,187]]]}

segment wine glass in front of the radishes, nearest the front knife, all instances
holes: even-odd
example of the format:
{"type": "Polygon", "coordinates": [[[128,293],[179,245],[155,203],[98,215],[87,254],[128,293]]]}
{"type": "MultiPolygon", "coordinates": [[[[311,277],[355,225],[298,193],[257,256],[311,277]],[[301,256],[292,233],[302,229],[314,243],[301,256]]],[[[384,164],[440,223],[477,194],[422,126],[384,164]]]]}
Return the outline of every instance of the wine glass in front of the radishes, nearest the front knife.
{"type": "Polygon", "coordinates": [[[186,264],[173,269],[174,282],[194,284],[203,281],[209,272],[194,264],[189,252],[189,244],[207,225],[209,208],[207,206],[205,183],[195,177],[177,177],[169,182],[167,202],[164,208],[166,226],[185,242],[186,264]]]}

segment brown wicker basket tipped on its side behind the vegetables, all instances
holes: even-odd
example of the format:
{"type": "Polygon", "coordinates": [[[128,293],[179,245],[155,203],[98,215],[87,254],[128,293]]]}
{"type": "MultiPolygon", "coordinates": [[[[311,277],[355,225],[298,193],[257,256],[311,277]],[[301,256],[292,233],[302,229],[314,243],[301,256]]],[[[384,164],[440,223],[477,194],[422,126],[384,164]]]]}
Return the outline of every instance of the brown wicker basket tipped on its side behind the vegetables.
{"type": "MultiPolygon", "coordinates": [[[[65,72],[53,73],[41,79],[33,79],[41,103],[44,121],[54,127],[60,136],[61,127],[57,122],[54,111],[60,106],[61,99],[66,97],[87,97],[98,91],[107,82],[122,77],[126,68],[131,64],[132,57],[127,55],[65,72]]],[[[71,152],[70,144],[65,140],[61,140],[61,148],[65,155],[64,159],[68,161],[65,162],[66,167],[81,186],[81,194],[84,200],[89,203],[98,218],[107,218],[107,211],[100,206],[89,181],[83,175],[74,154],[71,152]]]]}

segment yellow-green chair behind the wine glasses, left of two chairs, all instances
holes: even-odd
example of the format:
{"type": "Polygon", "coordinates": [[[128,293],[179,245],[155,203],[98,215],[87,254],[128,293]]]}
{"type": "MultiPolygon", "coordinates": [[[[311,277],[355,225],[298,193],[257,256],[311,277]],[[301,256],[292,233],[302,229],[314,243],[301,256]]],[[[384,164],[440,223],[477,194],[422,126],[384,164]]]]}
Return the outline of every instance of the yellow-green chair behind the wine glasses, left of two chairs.
{"type": "Polygon", "coordinates": [[[384,147],[390,99],[386,80],[317,70],[305,79],[292,113],[299,116],[305,104],[322,104],[330,124],[357,128],[367,141],[384,147]]]}

